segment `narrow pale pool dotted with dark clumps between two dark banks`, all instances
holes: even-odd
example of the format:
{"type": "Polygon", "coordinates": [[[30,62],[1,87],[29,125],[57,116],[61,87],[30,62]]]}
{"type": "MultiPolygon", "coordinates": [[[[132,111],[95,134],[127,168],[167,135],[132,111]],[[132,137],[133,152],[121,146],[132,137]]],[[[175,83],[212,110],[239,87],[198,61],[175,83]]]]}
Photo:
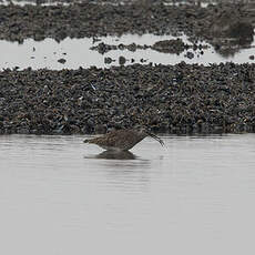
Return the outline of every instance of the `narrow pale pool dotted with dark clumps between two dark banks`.
{"type": "MultiPolygon", "coordinates": [[[[110,68],[112,65],[120,65],[120,57],[126,59],[125,65],[133,63],[153,63],[153,64],[176,64],[182,61],[186,63],[198,63],[208,65],[210,63],[221,62],[234,62],[234,63],[254,63],[249,57],[254,55],[255,42],[251,44],[248,49],[236,50],[235,53],[230,55],[222,55],[213,49],[212,45],[205,42],[200,42],[203,45],[207,45],[207,49],[203,50],[201,54],[200,50],[193,51],[192,49],[185,50],[180,54],[162,53],[152,49],[136,50],[135,52],[129,50],[111,50],[104,54],[100,54],[98,51],[91,50],[91,47],[95,47],[101,42],[119,45],[123,43],[129,45],[136,43],[139,45],[153,45],[156,41],[171,40],[181,38],[184,43],[193,44],[188,41],[186,35],[172,37],[172,35],[154,35],[154,34],[125,34],[122,37],[103,37],[99,38],[100,41],[93,42],[92,38],[83,39],[70,39],[67,38],[61,42],[57,42],[53,39],[45,39],[43,41],[34,41],[33,39],[27,39],[23,43],[9,42],[0,40],[0,70],[10,68],[13,69],[19,67],[20,70],[26,68],[37,69],[79,69],[98,67],[98,68],[110,68]],[[194,53],[194,58],[188,59],[187,52],[194,53]],[[110,64],[105,63],[105,58],[111,58],[113,62],[110,64]],[[58,60],[64,59],[64,63],[58,62],[58,60]],[[133,62],[132,62],[133,60],[133,62]]],[[[198,43],[198,44],[200,44],[198,43]]]]}

